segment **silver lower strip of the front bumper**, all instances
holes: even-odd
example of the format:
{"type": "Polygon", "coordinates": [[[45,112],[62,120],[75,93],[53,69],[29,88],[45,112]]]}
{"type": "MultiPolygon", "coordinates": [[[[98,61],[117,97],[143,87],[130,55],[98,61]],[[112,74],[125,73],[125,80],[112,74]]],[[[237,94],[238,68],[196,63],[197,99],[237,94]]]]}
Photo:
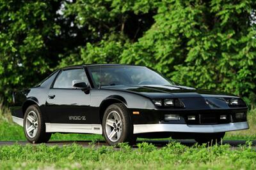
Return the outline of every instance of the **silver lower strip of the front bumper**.
{"type": "Polygon", "coordinates": [[[215,125],[188,125],[188,124],[137,124],[133,125],[133,133],[148,132],[193,132],[216,133],[249,129],[248,122],[237,122],[215,125]]]}

